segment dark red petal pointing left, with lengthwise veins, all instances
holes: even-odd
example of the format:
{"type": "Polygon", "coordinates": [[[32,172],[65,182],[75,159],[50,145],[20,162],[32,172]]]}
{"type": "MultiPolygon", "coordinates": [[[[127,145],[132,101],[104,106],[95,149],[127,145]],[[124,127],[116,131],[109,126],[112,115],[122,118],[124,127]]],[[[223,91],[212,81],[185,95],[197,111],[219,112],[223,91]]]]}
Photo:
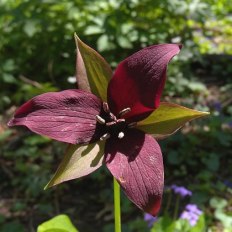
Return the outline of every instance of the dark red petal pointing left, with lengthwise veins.
{"type": "Polygon", "coordinates": [[[82,90],[41,94],[23,104],[9,126],[22,125],[58,141],[80,144],[99,138],[96,115],[101,100],[82,90]]]}

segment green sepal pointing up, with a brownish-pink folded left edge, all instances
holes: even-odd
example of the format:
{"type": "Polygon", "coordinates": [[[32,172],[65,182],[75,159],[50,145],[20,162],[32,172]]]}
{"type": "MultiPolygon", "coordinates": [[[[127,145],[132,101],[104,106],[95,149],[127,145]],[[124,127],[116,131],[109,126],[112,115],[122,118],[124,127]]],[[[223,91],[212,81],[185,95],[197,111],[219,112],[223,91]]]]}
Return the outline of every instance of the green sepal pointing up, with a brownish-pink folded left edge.
{"type": "Polygon", "coordinates": [[[107,100],[107,86],[112,77],[110,65],[95,50],[75,34],[77,47],[76,78],[80,89],[90,91],[103,101],[107,100]]]}

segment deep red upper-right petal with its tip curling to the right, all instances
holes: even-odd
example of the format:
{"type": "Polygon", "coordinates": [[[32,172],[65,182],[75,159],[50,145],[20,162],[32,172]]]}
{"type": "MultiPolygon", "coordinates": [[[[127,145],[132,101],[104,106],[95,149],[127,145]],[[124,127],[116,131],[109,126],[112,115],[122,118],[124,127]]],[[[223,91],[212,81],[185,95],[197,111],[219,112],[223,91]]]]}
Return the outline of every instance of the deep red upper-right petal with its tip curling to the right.
{"type": "Polygon", "coordinates": [[[179,53],[180,48],[178,44],[154,45],[122,61],[108,86],[112,112],[117,114],[130,107],[132,111],[125,117],[136,120],[138,115],[156,109],[164,88],[168,62],[179,53]]]}

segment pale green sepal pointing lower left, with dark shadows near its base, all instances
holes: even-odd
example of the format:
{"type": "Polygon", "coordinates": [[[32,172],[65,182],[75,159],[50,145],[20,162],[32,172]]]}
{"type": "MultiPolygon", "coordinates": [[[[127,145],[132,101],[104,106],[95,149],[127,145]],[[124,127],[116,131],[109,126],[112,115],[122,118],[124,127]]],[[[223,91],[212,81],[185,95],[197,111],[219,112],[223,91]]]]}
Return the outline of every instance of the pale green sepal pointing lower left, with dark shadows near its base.
{"type": "Polygon", "coordinates": [[[101,167],[104,155],[104,141],[88,145],[70,145],[55,175],[45,189],[86,176],[101,167]]]}

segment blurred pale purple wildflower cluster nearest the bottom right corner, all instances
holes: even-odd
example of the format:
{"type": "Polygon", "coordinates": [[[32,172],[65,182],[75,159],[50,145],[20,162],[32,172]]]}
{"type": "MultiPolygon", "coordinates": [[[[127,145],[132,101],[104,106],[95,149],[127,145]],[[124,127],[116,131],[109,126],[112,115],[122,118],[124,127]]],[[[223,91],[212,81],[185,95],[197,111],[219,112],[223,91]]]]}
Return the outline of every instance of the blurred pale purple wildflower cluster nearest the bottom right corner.
{"type": "Polygon", "coordinates": [[[191,226],[195,226],[201,214],[202,211],[198,209],[197,205],[188,204],[180,215],[180,218],[188,220],[191,226]]]}

